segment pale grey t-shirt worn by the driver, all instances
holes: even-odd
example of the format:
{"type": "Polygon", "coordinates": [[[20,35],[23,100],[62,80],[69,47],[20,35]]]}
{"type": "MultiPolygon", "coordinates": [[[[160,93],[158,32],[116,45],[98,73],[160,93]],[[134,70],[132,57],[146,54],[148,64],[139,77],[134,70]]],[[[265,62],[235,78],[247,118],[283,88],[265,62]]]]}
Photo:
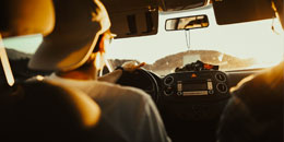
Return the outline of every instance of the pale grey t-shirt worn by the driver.
{"type": "Polygon", "coordinates": [[[56,74],[47,76],[46,80],[52,80],[88,94],[99,105],[104,123],[107,123],[122,141],[170,141],[152,98],[139,88],[103,81],[63,79],[56,74]]]}

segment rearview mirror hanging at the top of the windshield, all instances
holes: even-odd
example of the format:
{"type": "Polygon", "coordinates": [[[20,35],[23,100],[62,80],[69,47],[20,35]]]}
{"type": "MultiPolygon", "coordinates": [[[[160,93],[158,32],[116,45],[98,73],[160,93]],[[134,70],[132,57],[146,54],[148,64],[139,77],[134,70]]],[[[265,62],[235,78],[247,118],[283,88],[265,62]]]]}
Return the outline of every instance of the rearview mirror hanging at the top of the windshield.
{"type": "Polygon", "coordinates": [[[166,31],[193,29],[209,26],[206,15],[193,15],[169,19],[166,21],[166,31]]]}

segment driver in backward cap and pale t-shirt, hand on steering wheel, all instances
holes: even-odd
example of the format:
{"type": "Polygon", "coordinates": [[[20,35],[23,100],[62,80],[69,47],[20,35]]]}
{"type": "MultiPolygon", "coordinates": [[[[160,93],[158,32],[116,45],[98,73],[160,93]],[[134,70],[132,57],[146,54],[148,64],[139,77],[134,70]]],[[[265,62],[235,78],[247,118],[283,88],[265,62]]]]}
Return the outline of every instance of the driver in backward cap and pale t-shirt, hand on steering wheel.
{"type": "MultiPolygon", "coordinates": [[[[102,108],[98,141],[170,141],[150,95],[141,90],[97,81],[105,48],[111,40],[110,21],[98,0],[54,0],[56,26],[28,66],[52,70],[51,80],[88,94],[102,108]],[[68,4],[67,4],[68,2],[68,4]],[[106,127],[107,129],[106,129],[106,127]],[[120,139],[113,140],[111,133],[120,139]]],[[[113,73],[117,79],[121,71],[113,73]]]]}

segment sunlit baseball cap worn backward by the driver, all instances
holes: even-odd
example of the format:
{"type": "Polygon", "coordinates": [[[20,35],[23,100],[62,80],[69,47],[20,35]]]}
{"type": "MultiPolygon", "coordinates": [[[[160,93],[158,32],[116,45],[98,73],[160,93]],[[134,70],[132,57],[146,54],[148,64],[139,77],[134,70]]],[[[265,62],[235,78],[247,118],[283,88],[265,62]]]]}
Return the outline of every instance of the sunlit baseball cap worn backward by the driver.
{"type": "Polygon", "coordinates": [[[110,21],[99,0],[54,0],[56,25],[44,38],[28,68],[68,71],[81,67],[90,57],[99,35],[110,21]]]}

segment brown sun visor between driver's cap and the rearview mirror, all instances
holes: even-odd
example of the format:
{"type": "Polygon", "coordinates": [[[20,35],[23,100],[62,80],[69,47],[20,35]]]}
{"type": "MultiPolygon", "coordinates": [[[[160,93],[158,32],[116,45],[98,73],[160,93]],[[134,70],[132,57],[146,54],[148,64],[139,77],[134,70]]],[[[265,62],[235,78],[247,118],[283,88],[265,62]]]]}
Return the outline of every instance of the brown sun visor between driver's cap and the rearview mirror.
{"type": "Polygon", "coordinates": [[[157,34],[158,2],[156,0],[102,0],[111,21],[116,38],[157,34]]]}

